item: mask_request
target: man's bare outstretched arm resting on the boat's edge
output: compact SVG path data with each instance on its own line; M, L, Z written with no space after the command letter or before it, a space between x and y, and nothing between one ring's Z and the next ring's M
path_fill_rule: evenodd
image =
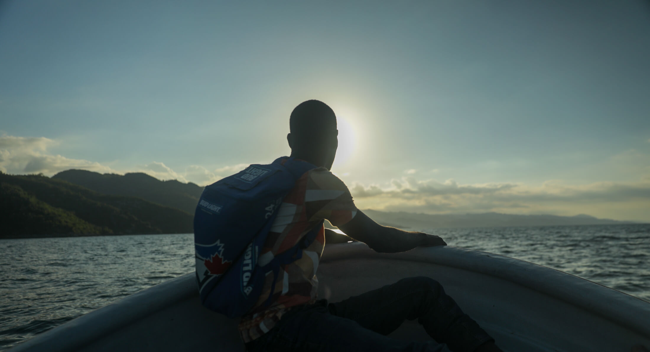
M433 234L409 232L379 225L361 210L357 210L356 216L345 225L339 226L339 229L380 253L403 252L419 246L447 245L442 238Z

